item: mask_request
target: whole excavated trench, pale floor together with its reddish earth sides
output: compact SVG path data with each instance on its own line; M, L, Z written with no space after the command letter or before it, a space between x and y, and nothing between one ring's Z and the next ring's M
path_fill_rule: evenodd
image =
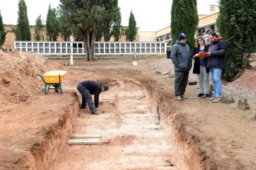
M64 123L39 149L35 169L201 169L203 154L190 148L193 139L160 92L132 79L107 83L112 88L100 94L102 113L79 110L76 96ZM155 125L156 98L161 125ZM103 143L68 146L71 134L100 134Z

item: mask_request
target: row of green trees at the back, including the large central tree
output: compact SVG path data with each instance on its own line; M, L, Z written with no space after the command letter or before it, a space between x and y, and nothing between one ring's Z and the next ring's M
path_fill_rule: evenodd
M31 33L25 0L19 0L18 6L16 40L29 41ZM110 32L112 26L113 31ZM66 41L69 40L71 34L74 34L76 41L83 41L88 60L93 59L93 45L97 35L104 36L105 41L108 41L113 35L115 41L118 41L123 34L127 36L128 41L134 41L137 34L136 21L132 11L130 11L128 28L121 27L118 0L60 0L58 10L49 6L46 27L42 24L41 15L36 18L35 40L44 40L45 29L50 41L56 41L59 33Z

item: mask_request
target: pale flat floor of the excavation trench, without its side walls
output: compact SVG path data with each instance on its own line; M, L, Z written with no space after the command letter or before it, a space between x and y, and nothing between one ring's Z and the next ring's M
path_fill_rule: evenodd
M152 98L134 83L116 81L111 92L101 94L102 114L79 112L73 133L100 134L104 143L67 147L55 169L177 169L172 138L155 125L147 101Z

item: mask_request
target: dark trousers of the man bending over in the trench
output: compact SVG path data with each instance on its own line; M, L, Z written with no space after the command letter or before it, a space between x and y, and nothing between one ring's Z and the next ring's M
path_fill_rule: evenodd
M77 85L77 90L79 90L79 92L82 94L82 106L83 104L87 103L90 108L90 113L95 113L96 108L93 104L93 99L92 99L92 96L90 95L89 90L87 90L86 87L84 87L81 84Z

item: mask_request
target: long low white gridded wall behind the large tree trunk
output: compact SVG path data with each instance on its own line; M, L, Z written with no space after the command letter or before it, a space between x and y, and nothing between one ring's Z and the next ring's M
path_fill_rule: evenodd
M83 42L15 41L14 48L39 55L86 55ZM95 55L158 55L166 54L163 42L95 42Z

